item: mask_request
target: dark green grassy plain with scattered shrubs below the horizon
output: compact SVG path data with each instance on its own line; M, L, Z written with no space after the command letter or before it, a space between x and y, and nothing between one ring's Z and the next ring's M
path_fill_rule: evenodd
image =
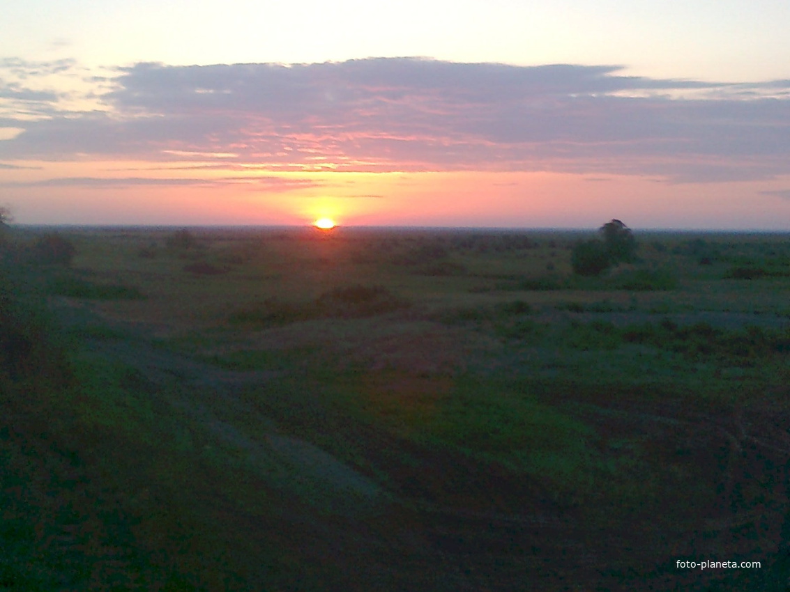
M787 590L788 235L55 236L0 246L0 590Z

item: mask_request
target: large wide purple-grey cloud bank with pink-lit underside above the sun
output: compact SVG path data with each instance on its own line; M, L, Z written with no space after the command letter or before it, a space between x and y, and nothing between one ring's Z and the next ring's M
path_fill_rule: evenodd
M790 81L716 84L622 71L421 58L140 63L117 70L101 97L107 111L6 124L24 133L0 144L0 157L555 170L671 182L790 173Z

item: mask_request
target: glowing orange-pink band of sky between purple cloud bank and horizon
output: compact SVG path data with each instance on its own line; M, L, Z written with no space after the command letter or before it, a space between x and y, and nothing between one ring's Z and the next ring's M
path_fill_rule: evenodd
M127 169L140 164L103 163L101 174L123 180ZM90 169L85 163L57 163L50 174L60 178L69 170L70 178L79 179ZM32 178L34 171L21 171L18 177ZM17 187L14 212L25 223L56 219L65 224L134 225L301 226L329 218L343 226L571 228L619 217L641 228L679 227L678 220L687 228L730 228L738 220L745 228L781 230L790 219L790 200L770 192L782 186L781 180L672 185L629 175L549 172L284 172L265 176L307 180L310 185L261 189L255 173L219 187L213 184L227 176L228 171L213 170L205 175L205 184L186 186L130 182L55 184L46 191L40 185ZM173 176L169 170L156 170L145 178L166 182ZM783 212L784 217L772 219L766 212Z

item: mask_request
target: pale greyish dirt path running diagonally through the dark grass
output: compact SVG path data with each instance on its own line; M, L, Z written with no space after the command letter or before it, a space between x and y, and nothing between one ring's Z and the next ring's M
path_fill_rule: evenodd
M73 326L93 317L85 309L66 313L67 323ZM136 370L152 392L166 396L173 407L211 433L217 447L242 455L246 466L274 489L297 496L318 511L348 516L365 515L389 500L370 478L322 448L284 433L272 418L239 396L246 389L261 388L280 372L217 368L156 347L139 325L126 326L122 333L128 338L84 339L89 355ZM232 419L239 417L252 421ZM249 425L254 429L245 427Z

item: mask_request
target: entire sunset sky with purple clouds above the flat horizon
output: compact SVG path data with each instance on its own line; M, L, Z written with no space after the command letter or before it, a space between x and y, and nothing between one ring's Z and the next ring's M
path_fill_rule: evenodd
M31 224L790 230L786 0L10 0Z

